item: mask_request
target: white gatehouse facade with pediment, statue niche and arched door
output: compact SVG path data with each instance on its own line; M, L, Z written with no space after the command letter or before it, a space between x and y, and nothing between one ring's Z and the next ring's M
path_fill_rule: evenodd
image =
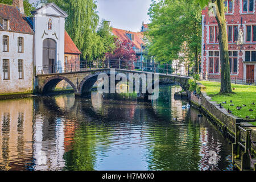
M35 31L36 74L62 72L64 67L65 18L67 14L54 3L32 12Z

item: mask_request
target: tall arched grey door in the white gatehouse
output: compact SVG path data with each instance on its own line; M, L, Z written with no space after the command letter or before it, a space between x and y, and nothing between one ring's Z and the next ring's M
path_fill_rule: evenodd
M43 71L44 73L56 72L56 42L53 39L43 41Z

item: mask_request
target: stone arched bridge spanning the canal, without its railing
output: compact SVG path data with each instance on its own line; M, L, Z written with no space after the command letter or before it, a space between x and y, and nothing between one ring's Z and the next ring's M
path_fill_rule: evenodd
M76 96L82 96L92 89L93 85L98 79L98 75L105 73L110 76L110 68L90 69L88 71L75 71L64 73L42 74L36 76L35 89L38 93L48 93L55 89L56 85L62 81L67 81L73 88ZM115 75L121 73L129 78L129 73L146 73L152 75L159 75L159 85L161 84L178 84L184 90L188 90L189 76L179 76L167 73L151 73L132 71L128 69L115 69ZM154 82L154 81L153 81Z

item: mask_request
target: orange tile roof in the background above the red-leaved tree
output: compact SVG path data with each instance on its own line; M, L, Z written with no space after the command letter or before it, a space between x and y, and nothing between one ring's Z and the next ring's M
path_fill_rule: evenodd
M137 49L141 49L141 44L144 44L143 42L143 33L142 32L131 32L127 30L122 30L118 28L112 28L112 33L117 36L117 38L123 42L124 40L127 40L131 42L131 40L127 37L127 34L133 34L134 35L134 41L132 41L133 46L135 46Z

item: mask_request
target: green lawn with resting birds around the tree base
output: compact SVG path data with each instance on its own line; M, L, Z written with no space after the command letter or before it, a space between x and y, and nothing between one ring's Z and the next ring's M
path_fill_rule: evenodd
M256 119L256 86L249 85L236 85L232 84L233 94L228 94L225 96L219 96L220 92L220 82L209 82L209 81L200 81L206 87L205 92L208 96L212 97L213 101L218 102L224 106L226 110L232 110L232 114L240 118L245 118L246 115L251 119ZM232 100L233 103L230 103ZM222 104L222 102L227 102L227 104ZM252 105L252 103L255 105ZM230 106L233 104L234 106ZM246 105L243 107L242 105ZM241 106L241 110L237 110L236 107ZM252 109L253 111L249 111ZM256 122L253 123L256 125Z

